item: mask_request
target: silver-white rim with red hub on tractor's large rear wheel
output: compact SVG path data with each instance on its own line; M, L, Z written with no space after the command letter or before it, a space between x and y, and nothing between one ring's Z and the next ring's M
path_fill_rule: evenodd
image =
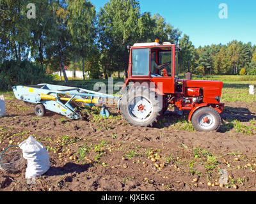
M132 98L129 101L127 108L129 115L137 122L145 122L149 120L153 113L151 101L143 96Z

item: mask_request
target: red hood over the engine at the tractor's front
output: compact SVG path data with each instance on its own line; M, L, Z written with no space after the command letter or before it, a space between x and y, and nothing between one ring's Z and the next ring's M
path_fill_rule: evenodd
M204 103L220 103L223 82L204 80L182 80L183 90L200 88L203 90Z

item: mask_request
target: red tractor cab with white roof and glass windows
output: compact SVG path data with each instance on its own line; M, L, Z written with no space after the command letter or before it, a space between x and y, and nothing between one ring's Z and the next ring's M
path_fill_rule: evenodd
M163 94L182 92L175 78L178 52L179 49L169 42L134 44L130 52L128 81L154 82L157 87L163 86Z

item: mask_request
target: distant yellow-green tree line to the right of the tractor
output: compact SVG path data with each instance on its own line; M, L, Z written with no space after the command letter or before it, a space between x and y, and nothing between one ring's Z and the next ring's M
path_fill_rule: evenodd
M182 68L190 62L197 75L256 75L256 46L233 40L227 45L207 45L195 48L189 36L180 40Z

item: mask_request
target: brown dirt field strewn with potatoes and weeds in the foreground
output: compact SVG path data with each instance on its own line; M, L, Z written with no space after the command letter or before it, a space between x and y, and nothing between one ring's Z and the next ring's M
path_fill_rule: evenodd
M155 128L128 125L115 108L102 119L69 120L6 100L0 148L32 135L48 150L51 168L27 184L20 173L0 171L1 191L255 191L256 102L226 103L218 132L198 133L187 117L166 112ZM220 185L221 170L228 184ZM211 182L211 187L209 187Z

